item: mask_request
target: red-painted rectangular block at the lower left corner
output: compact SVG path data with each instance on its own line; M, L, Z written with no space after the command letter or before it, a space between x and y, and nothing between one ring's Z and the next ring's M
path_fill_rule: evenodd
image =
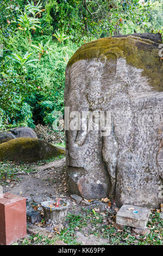
M0 244L10 245L26 235L26 198L5 193L0 198Z

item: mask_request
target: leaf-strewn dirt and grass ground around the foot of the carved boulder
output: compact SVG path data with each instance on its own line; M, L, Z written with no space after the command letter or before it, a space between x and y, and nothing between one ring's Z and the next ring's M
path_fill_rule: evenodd
M4 192L26 197L28 204L42 216L40 221L27 224L28 235L16 241L16 244L162 245L163 221L158 210L154 210L149 218L149 234L137 235L131 227L117 226L116 214L119 209L109 199L106 203L98 200L83 200L84 203L73 200L67 192L65 158L49 163L41 162L41 165L34 163L34 168L27 163L23 167L26 172L23 173L17 163L1 164L2 169L7 168L9 172L12 167L12 173L18 173L18 180L14 178L16 174L7 178L2 174ZM61 229L45 223L43 212L39 210L44 200L53 200L56 197L57 191L58 196L70 204L67 220Z

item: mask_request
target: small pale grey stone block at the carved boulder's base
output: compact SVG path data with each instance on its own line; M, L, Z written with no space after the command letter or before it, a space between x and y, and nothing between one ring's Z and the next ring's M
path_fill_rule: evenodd
M148 218L149 209L133 205L123 205L116 215L116 223L145 229Z

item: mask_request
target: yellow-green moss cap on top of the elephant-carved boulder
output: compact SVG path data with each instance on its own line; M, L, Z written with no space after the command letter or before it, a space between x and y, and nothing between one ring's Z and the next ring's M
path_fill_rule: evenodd
M151 86L163 91L163 62L159 57L159 43L139 36L102 38L82 45L67 64L69 68L82 59L99 58L102 54L109 60L114 53L117 58L125 58L127 63L143 69L142 75L149 78Z

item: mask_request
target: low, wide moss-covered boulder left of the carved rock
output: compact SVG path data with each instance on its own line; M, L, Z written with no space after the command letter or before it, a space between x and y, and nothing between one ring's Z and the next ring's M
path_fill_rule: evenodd
M35 162L65 154L65 151L35 138L16 138L0 144L0 160Z

